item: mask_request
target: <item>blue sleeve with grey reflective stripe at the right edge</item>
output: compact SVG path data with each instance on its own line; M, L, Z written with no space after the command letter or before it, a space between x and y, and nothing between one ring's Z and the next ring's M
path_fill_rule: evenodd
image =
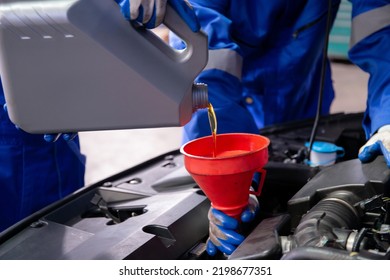
M363 127L371 137L390 124L390 1L350 0L352 34L349 58L370 74Z

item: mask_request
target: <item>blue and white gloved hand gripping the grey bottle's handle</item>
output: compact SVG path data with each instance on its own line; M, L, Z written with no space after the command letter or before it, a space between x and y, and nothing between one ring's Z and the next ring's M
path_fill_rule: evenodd
M167 1L192 31L199 31L198 19L186 0L115 0L127 20L142 23L149 29L159 26L164 20Z

